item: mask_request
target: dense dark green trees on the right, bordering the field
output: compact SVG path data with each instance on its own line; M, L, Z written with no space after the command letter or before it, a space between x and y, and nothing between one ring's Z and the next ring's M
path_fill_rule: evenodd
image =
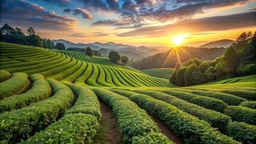
M197 85L229 77L256 74L256 33L243 32L213 61L198 58L177 62L169 81L178 86Z

